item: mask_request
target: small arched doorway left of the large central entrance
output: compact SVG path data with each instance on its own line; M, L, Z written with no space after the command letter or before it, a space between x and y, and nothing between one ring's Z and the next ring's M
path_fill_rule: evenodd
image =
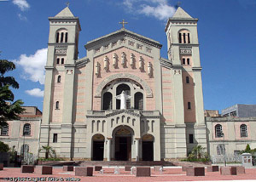
M92 160L103 161L105 137L102 134L95 134L92 137Z

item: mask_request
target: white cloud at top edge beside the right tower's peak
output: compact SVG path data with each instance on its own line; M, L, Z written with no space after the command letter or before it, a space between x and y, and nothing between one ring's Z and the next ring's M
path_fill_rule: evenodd
M153 16L158 20L167 20L176 10L168 0L123 0L123 5L130 13Z

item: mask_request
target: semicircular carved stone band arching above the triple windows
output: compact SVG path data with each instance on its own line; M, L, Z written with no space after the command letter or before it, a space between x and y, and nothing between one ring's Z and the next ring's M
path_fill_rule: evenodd
M143 81L143 79L141 79L140 77L131 75L129 73L119 73L119 74L115 74L115 75L105 78L96 88L95 97L102 97L102 89L108 84L108 82L112 82L113 80L119 79L119 78L128 78L128 79L131 79L131 80L134 80L134 81L140 83L143 86L143 89L146 91L147 97L153 97L152 90L148 86L148 83Z

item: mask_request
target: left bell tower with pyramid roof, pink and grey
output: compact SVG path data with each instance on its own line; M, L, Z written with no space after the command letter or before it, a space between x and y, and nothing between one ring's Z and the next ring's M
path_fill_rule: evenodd
M44 114L40 146L50 145L71 158L75 60L78 59L79 18L70 9L49 17L49 43L45 65ZM51 128L55 125L59 128ZM61 142L55 142L58 139Z

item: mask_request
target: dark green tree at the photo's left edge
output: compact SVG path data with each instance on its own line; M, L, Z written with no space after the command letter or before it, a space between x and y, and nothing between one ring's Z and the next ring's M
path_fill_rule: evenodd
M24 111L21 107L22 100L15 100L15 95L9 87L19 88L19 83L14 77L4 77L8 71L15 70L15 64L8 60L0 60L0 127L6 125L8 120L19 119L19 114Z

